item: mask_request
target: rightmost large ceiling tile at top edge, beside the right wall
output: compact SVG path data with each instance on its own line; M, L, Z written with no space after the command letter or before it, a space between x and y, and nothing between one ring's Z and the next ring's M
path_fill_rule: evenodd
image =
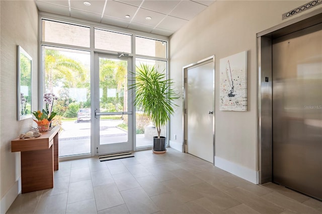
M201 5L199 3L195 3L192 1L182 1L170 13L170 15L181 19L191 20L206 8L207 6Z

